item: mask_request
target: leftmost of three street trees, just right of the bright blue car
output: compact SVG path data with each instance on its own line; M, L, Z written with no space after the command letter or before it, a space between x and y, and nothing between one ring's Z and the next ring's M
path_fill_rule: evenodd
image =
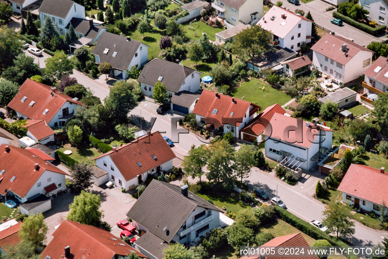
M199 178L199 181L202 182L201 176L204 174L203 167L206 165L207 160L207 151L205 145L195 147L191 146L191 149L188 152L188 156L185 156L182 161L183 170L189 174L193 179L195 177Z

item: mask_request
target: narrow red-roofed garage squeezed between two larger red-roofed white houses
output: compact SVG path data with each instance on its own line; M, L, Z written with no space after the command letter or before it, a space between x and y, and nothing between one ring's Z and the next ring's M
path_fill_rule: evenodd
M278 103L265 108L259 115L251 120L248 125L240 130L241 139L249 142L256 140L258 143L262 143L262 133L269 124L274 113L284 114L286 113L286 110Z

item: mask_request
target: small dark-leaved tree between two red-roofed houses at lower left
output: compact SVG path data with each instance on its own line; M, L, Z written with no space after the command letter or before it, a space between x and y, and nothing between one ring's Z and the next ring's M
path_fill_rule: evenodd
M92 187L93 169L89 164L85 162L75 163L70 170L70 175L71 189L76 193L87 191Z

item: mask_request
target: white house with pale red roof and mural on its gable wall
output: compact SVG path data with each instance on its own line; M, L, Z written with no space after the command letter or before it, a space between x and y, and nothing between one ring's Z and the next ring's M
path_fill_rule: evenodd
M313 65L342 85L357 80L371 66L373 51L352 40L326 33L314 44Z

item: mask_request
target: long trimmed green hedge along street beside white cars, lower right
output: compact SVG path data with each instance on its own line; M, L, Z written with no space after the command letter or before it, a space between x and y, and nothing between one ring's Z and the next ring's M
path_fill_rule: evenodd
M274 208L275 208L275 213L279 218L286 221L291 226L294 226L295 228L299 229L303 233L311 236L312 238L317 240L326 239L333 246L348 246L348 244L342 242L341 240L336 239L334 236L331 236L326 232L319 230L318 228L315 228L313 225L295 216L291 212L288 212L287 210L279 206L274 206Z

